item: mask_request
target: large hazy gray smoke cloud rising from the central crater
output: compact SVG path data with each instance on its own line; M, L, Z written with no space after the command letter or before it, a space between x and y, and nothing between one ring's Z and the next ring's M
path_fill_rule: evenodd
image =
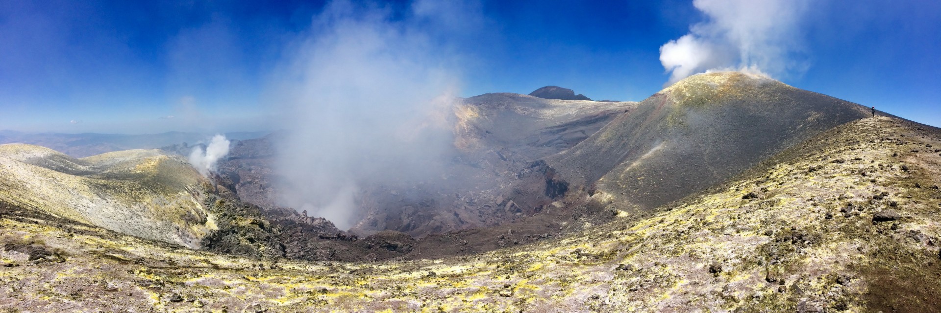
M458 75L439 34L423 29L460 14L450 8L461 7L418 2L395 14L333 2L314 17L272 87L284 114L281 205L345 229L362 188L439 173L453 147L446 118Z

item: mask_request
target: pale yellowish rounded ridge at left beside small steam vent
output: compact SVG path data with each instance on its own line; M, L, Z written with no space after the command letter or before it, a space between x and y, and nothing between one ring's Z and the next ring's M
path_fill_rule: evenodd
M217 229L199 203L199 173L157 150L73 159L52 149L0 145L0 201L125 234L199 248Z

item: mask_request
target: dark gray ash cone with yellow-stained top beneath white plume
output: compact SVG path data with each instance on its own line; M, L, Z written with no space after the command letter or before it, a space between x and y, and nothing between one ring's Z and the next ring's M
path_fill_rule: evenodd
M691 76L547 157L573 188L645 211L729 179L869 108L741 72Z

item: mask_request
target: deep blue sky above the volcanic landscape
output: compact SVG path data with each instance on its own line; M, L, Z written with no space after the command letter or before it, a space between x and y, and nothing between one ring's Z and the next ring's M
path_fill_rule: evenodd
M350 19L424 42L403 54L445 68L459 96L556 85L641 101L670 79L661 47L717 19L692 1L426 2L351 5L346 20L309 1L0 2L0 129L277 129L285 69ZM796 66L774 78L941 126L939 2L804 4L774 41Z

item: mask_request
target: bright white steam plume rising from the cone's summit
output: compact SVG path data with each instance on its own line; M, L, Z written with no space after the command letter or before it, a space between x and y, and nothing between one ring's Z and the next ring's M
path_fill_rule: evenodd
M707 70L742 70L766 76L803 70L800 24L806 0L694 0L707 21L660 47L671 85Z

